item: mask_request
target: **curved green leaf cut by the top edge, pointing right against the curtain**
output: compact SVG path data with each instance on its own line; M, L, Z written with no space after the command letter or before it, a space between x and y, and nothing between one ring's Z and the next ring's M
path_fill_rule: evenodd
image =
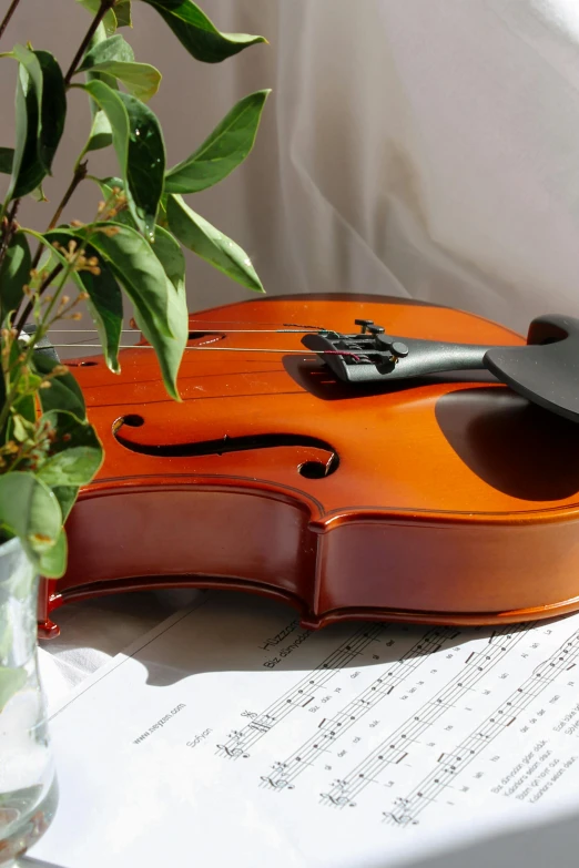
M144 0L156 9L181 44L196 60L220 63L248 45L266 42L247 33L220 33L215 24L192 0Z

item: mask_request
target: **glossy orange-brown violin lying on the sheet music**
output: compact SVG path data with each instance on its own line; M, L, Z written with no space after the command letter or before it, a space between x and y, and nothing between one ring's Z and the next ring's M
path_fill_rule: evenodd
M105 460L51 612L100 594L264 594L341 620L480 625L579 609L579 321L527 339L374 295L190 316L176 402L144 339L67 359ZM395 336L395 337L393 337Z

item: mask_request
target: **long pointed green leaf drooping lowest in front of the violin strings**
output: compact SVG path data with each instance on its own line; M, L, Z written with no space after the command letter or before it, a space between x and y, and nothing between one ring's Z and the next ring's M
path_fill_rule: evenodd
M116 229L110 234L111 226ZM57 229L61 233L61 229ZM131 299L135 319L145 338L154 347L165 388L179 399L176 376L185 344L172 333L171 324L182 310L180 296L170 292L164 269L151 245L132 226L119 223L90 224L71 237L82 241L90 233L91 246L105 262ZM47 233L50 239L52 233Z

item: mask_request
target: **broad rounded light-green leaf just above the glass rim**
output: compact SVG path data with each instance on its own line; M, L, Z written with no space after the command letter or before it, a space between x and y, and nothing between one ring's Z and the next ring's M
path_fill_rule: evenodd
M57 542L62 513L53 492L32 473L0 476L0 525L20 538L33 563Z

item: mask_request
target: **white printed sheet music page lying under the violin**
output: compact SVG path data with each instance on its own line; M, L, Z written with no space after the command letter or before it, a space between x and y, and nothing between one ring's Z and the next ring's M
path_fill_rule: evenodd
M383 868L535 825L579 805L578 687L579 615L311 632L207 594L53 715L60 805L32 855Z

